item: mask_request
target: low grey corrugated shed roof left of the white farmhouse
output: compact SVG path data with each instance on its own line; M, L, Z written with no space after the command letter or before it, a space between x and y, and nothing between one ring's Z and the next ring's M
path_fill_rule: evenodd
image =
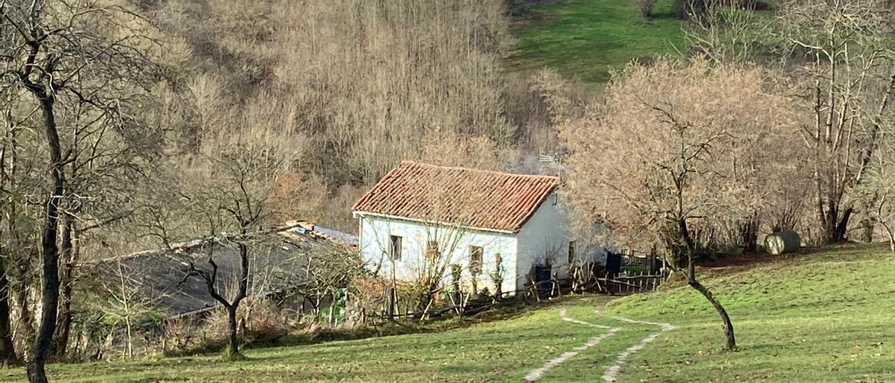
M302 285L309 277L303 263L309 254L356 251L355 244L321 235L319 229L320 226L305 222L288 222L256 234L251 245L252 280L265 281L268 293ZM204 280L184 279L191 261L210 273L208 258L212 253L218 266L218 288L226 290L240 275L241 258L235 243L218 238L178 243L171 250L141 251L79 267L91 279L106 285L115 285L119 277L126 277L129 285L139 286L135 298L177 318L217 307L218 302L209 294Z

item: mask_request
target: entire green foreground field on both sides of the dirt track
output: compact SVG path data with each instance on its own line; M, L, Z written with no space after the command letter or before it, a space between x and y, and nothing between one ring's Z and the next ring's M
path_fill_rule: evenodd
M526 372L605 333L560 318L621 328L546 371L541 381L598 381L618 353L657 331L613 319L677 328L632 355L619 381L895 381L895 257L849 245L788 258L703 268L725 303L737 353L722 353L719 321L701 295L666 286L609 302L570 296L515 318L442 333L383 336L250 350L243 362L215 356L141 362L55 364L58 381L521 381ZM0 370L0 380L24 370Z

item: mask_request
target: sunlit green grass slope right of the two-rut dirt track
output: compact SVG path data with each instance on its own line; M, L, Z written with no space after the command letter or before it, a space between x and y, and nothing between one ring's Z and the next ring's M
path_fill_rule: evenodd
M611 302L609 312L678 325L633 358L628 381L895 381L895 257L848 245L705 280L729 311L739 352L721 353L720 320L680 287Z

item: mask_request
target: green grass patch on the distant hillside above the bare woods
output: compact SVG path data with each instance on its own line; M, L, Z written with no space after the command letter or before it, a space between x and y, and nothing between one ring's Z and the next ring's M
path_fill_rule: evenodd
M510 66L549 67L584 81L609 80L609 72L635 58L685 51L682 21L671 0L656 4L644 21L630 0L568 0L535 6L512 29L516 49Z

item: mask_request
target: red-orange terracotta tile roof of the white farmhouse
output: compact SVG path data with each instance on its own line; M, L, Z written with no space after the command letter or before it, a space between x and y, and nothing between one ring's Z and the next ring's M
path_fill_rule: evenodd
M558 183L548 175L402 161L353 210L516 233Z

